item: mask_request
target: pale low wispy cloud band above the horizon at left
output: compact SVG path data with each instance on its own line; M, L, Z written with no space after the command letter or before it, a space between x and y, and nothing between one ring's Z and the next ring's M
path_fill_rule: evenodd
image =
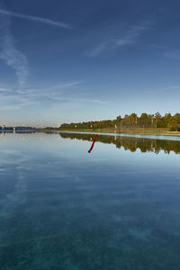
M80 93L73 91L80 82L82 81L54 85L50 88L50 91L49 88L43 88L43 91L40 88L6 89L7 91L0 92L0 111L22 110L32 106L44 106L45 104L49 108L56 105L66 105L67 103L96 103L102 105L108 103L102 99L86 97L86 94L81 91ZM63 85L66 91L64 91ZM67 88L70 91L67 91Z

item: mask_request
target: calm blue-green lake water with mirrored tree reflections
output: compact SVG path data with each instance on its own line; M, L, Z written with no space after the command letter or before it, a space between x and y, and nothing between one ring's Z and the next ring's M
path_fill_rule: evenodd
M180 269L180 141L0 133L0 269Z

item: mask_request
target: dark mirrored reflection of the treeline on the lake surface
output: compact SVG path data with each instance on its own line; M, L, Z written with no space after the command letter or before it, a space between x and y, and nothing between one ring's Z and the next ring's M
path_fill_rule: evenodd
M92 134L59 133L59 135L64 139L82 139L90 141L94 139L94 135ZM141 152L154 152L158 154L160 150L164 150L166 154L169 154L171 151L175 152L175 154L180 154L180 140L98 135L96 141L108 144L112 143L116 145L116 148L122 147L131 152L135 152L139 149Z

